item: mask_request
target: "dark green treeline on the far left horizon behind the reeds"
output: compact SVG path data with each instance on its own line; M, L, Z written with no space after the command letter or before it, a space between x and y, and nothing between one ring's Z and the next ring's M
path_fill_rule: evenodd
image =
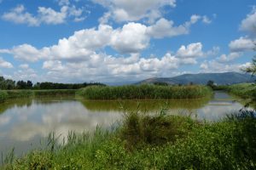
M32 81L20 80L15 82L11 79L0 77L0 89L79 89L87 86L106 86L101 82L84 82L84 83L57 83L57 82L37 82L33 84Z

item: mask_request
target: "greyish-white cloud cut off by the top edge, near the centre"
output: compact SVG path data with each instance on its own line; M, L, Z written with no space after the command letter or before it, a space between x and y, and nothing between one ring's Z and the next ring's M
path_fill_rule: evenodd
M107 13L118 22L142 19L153 22L162 16L160 8L176 6L176 0L93 0L93 2L108 8Z

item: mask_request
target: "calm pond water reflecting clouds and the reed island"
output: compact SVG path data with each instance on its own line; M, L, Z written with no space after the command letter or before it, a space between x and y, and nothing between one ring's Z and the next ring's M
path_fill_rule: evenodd
M241 107L239 102L223 92L216 92L212 99L12 100L0 105L0 151L4 155L15 147L15 153L20 155L26 150L42 146L40 140L46 140L50 132L55 132L56 136L61 134L61 138L65 138L71 131L93 132L97 125L109 128L122 119L124 111L134 111L137 108L152 113L166 108L169 114L189 114L200 120L218 121Z

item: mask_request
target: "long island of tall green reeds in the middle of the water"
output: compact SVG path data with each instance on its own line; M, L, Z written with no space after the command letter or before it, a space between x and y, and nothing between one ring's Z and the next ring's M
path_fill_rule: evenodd
M87 87L78 91L84 99L197 99L212 94L206 86L129 85Z

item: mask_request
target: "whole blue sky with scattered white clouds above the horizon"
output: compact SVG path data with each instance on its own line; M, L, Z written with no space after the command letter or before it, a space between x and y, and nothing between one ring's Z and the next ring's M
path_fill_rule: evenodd
M0 0L0 76L136 82L241 71L255 0Z

